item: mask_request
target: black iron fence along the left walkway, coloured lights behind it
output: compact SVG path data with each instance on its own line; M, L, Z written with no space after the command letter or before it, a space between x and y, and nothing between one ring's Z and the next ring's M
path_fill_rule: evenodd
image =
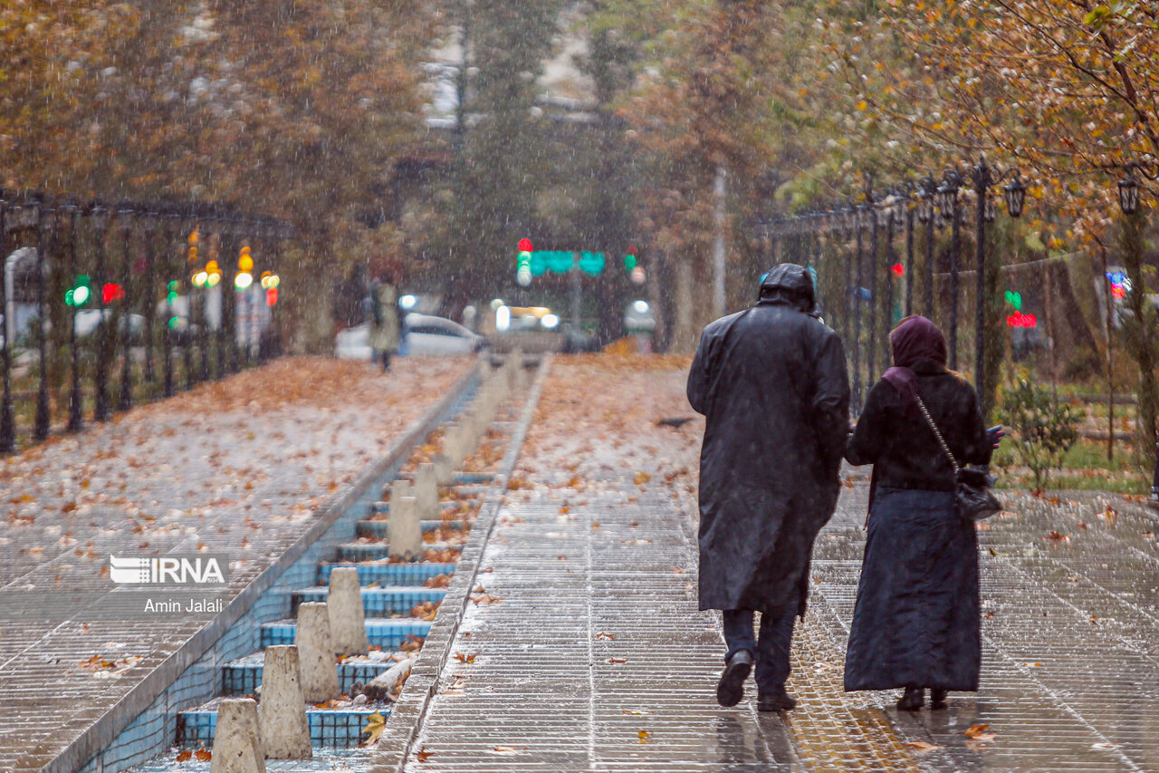
M280 352L289 224L0 189L0 453Z

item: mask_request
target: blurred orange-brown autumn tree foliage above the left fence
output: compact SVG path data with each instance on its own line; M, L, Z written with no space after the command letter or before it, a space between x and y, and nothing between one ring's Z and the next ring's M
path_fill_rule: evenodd
M359 223L421 136L436 21L370 0L7 3L0 182L287 219L287 313L328 339L326 288L365 259Z

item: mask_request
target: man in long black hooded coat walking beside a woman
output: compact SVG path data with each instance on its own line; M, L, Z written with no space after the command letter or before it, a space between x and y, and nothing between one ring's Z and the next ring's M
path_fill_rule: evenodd
M850 403L840 339L818 319L804 268L775 267L756 306L705 328L688 402L707 419L700 608L723 611L728 643L716 699L738 703L756 662L759 708L790 709L793 623L804 614L812 542L837 506Z

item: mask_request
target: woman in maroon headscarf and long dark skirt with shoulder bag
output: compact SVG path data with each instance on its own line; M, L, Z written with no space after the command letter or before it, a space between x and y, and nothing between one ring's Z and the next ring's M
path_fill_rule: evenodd
M869 391L845 451L851 464L874 465L845 689L904 687L898 708L917 710L928 687L941 708L947 691L978 689L978 546L917 396L958 464L987 464L994 438L974 388L947 369L936 325L909 317L890 345L894 367Z

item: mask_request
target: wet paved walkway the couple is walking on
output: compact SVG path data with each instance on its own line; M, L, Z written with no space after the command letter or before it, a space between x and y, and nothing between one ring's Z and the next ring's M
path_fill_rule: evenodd
M822 533L779 716L715 703L695 600L695 456L678 362L560 359L407 771L1159 770L1159 552L1122 497L1007 494L981 533L977 695L898 713L841 692L866 481ZM982 737L967 730L987 724ZM977 734L976 734L977 735Z

